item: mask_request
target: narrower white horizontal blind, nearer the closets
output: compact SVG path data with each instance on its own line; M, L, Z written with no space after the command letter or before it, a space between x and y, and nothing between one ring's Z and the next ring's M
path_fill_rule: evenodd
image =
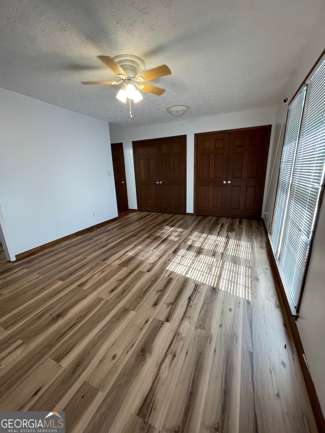
M293 166L296 155L301 118L303 115L305 96L306 86L296 96L295 101L290 105L285 128L272 230L273 246L277 257L280 253L280 245L283 233L283 221L287 209L288 194L293 174Z

